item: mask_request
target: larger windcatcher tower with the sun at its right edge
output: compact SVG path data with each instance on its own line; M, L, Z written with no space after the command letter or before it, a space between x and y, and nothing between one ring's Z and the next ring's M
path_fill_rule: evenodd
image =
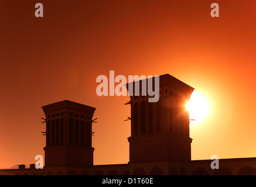
M190 161L192 139L186 103L194 88L169 74L161 75L159 101L148 102L149 95L142 95L139 82L139 96L130 96L129 162Z

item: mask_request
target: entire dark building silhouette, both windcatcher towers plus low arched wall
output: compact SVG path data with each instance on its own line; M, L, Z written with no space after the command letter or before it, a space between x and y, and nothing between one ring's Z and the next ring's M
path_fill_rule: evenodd
M35 164L19 169L0 169L0 175L256 175L256 158L191 161L189 112L186 103L194 88L169 74L159 76L159 101L149 102L154 85L139 83L139 94L131 95L131 137L128 164L93 165L91 124L95 108L71 101L43 106L46 116L45 167ZM127 84L128 91L131 91ZM146 87L146 88L145 88ZM142 89L143 88L143 89ZM155 88L155 89L152 89ZM136 91L135 91L136 92ZM138 93L138 92L136 92ZM126 103L126 104L128 104ZM3 172L4 173L3 173Z

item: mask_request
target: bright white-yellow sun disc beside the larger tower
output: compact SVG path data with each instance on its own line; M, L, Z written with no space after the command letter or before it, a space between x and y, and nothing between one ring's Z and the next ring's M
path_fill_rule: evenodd
M194 122L200 122L207 115L209 104L202 94L194 91L186 108L189 110L189 119L194 119Z

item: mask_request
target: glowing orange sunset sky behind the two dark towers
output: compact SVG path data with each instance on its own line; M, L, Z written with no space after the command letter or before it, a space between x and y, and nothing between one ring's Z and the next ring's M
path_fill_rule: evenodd
M36 18L35 4L44 5ZM220 18L210 5L219 3ZM96 78L170 74L209 101L190 125L192 159L256 157L256 2L0 2L0 168L44 155L41 106L97 108L94 164L127 163L128 96L99 97Z

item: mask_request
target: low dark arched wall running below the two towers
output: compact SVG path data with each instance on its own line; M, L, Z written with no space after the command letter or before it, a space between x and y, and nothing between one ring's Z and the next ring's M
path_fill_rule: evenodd
M213 160L149 162L94 165L93 167L52 167L44 169L2 169L13 175L256 175L256 158L219 160L219 169L211 169Z

